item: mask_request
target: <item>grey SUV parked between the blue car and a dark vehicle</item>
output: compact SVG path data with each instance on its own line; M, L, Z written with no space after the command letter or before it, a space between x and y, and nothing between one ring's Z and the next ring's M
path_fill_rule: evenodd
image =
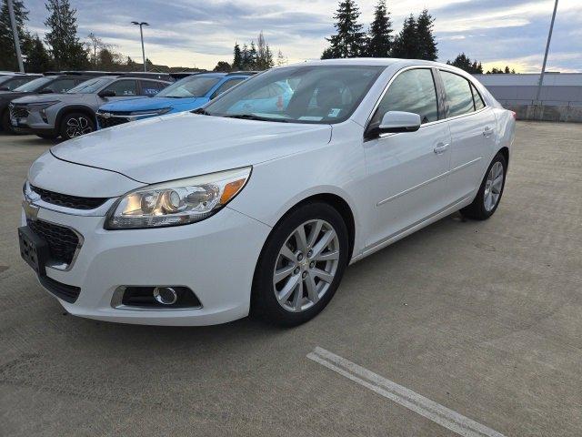
M15 99L11 123L18 131L39 137L79 137L95 130L95 111L104 103L155 96L169 84L134 75L98 76L63 94Z

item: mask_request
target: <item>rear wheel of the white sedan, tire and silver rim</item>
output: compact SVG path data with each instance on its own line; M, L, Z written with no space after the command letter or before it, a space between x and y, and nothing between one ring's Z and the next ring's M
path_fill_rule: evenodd
M461 209L461 214L469 219L485 220L491 217L503 195L506 185L507 160L498 153L489 164L485 178L477 191L477 196L468 207Z

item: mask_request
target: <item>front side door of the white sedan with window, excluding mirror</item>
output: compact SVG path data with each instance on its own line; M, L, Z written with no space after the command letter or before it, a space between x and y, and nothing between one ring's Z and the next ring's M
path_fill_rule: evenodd
M383 134L364 142L370 208L376 223L368 245L385 241L447 207L450 133L438 105L435 72L406 69L381 98L369 126L387 111L418 114L416 132Z

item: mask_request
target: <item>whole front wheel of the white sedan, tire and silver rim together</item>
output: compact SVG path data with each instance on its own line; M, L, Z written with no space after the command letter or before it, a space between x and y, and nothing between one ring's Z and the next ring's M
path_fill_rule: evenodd
M284 326L310 320L336 293L347 265L346 223L326 203L308 203L282 219L256 266L252 312Z

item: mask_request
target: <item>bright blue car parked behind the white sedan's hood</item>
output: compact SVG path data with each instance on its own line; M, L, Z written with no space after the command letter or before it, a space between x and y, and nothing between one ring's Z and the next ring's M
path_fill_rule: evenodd
M112 127L142 118L191 111L252 75L251 72L236 72L186 76L167 86L156 97L132 98L99 107L97 125L98 128Z

